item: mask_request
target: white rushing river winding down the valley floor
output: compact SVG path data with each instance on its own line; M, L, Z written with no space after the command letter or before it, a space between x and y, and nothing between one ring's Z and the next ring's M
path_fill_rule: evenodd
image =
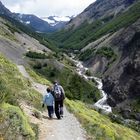
M76 71L79 75L84 77L86 80L94 79L97 82L97 88L100 90L102 98L94 104L94 108L101 109L104 113L112 112L111 107L107 105L107 94L102 90L102 87L103 87L102 80L94 76L87 76L85 72L88 70L88 68L84 67L82 62L74 60L74 59L72 60L76 64L76 67L77 67Z

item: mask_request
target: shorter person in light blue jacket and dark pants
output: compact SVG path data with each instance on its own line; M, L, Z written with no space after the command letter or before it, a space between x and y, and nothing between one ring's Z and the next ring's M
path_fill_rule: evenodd
M51 93L51 89L48 87L47 88L47 93L45 93L45 96L43 97L43 104L42 107L44 107L45 105L47 105L47 109L48 109L48 116L51 119L53 117L54 114L54 97Z

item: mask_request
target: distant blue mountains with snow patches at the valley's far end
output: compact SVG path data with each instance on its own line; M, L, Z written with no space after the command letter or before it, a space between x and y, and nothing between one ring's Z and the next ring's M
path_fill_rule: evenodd
M12 17L36 32L50 33L62 29L72 17L50 16L39 18L31 14L12 13L0 2L0 14ZM51 24L53 22L54 24Z

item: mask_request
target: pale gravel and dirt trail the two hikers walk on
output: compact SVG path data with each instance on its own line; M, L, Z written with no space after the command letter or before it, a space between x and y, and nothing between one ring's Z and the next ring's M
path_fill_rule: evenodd
M35 90L39 91L41 94L45 92L46 86L35 83L25 70L24 66L18 65L18 69L24 77L32 82L32 87ZM42 114L43 118L39 120L32 116L32 107L25 103L21 103L21 107L29 116L31 122L39 125L39 140L86 140L86 133L82 129L80 123L65 107L64 118L61 120L57 120L55 116L54 119L49 120L47 112L44 112Z

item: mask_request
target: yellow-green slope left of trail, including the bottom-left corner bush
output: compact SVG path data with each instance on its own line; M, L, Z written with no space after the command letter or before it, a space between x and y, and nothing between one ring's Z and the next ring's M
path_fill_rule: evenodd
M0 54L0 134L4 139L35 140L35 133L19 103L41 108L42 96L31 88L17 67Z

